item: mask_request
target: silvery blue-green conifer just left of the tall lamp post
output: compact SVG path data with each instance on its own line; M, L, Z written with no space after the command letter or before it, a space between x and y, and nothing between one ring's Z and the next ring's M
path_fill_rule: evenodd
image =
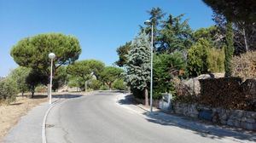
M131 43L127 54L126 80L131 89L143 91L145 105L148 106L148 83L150 82L150 43L148 36L142 32Z

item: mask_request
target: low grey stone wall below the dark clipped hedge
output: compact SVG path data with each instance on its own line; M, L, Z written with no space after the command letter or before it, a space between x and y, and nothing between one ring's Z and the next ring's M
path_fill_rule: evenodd
M200 115L205 111L211 113L210 120L212 123L224 124L254 131L256 130L256 112L210 108L197 104L173 104L173 112L187 117L203 118Z

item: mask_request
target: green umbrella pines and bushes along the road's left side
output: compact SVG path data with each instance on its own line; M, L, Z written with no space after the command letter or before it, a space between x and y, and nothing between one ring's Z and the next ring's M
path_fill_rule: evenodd
M35 92L47 93L49 84L49 53L55 53L53 86L79 91L98 89L126 89L123 70L105 66L100 60L78 60L82 50L79 40L61 33L39 34L21 39L11 49L11 56L19 65L0 80L0 100L7 104L15 101L17 94L33 98Z

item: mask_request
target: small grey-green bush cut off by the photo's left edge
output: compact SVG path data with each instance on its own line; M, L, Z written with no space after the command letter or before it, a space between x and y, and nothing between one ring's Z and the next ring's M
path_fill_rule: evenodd
M6 100L8 103L16 100L18 88L15 81L7 77L0 82L0 100Z

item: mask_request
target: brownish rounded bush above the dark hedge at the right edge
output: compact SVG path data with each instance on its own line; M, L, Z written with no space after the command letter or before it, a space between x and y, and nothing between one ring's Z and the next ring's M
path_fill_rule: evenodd
M232 76L243 80L256 77L256 52L247 52L231 60Z

